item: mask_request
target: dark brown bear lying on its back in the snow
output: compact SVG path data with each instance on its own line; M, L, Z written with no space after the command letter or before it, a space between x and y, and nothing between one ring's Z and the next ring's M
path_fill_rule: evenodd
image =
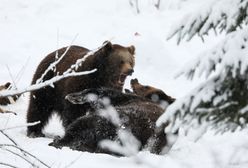
M140 141L140 150L147 148L150 152L159 154L167 144L165 125L160 128L155 125L156 120L165 110L160 106L160 101L171 103L174 99L160 89L139 84L137 79L131 80L131 85L134 92L142 96L106 88L86 89L67 95L66 99L73 104L90 103L91 111L70 124L65 136L56 138L50 145L57 148L68 146L88 152L120 154L102 148L99 142L105 139L118 142L117 131L125 129ZM141 89L142 87L144 88ZM151 88L153 94L163 95L160 101L154 102L150 99L152 96L148 96L148 93L151 93ZM121 124L116 124L102 114L103 110L109 110L105 98L110 99L110 104L118 113Z

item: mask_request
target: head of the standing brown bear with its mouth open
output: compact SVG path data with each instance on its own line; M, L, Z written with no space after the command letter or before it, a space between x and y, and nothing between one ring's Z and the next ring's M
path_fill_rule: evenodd
M104 87L122 90L126 77L132 75L135 65L135 47L123 47L107 41L99 50L98 68Z

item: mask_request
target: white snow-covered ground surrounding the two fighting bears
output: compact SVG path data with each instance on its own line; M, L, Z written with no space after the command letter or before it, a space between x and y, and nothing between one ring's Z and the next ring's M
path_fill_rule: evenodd
M166 40L171 25L202 4L197 0L161 0L157 10L152 0L140 2L140 14L128 0L1 0L0 1L0 84L14 80L18 88L30 84L35 68L48 53L73 44L95 49L111 40L136 47L136 67L131 78L163 89L180 98L204 79L193 82L175 79L180 69L197 54L216 44L221 37L194 38L176 45ZM129 80L125 87L129 88ZM28 94L14 105L1 106L17 115L0 114L0 129L25 125ZM140 152L133 157L113 157L55 149L48 146L54 136L63 135L61 123L54 117L45 130L46 138L26 137L26 128L6 131L19 146L51 167L243 167L248 166L248 132L214 135L208 131L198 137L196 131L181 133L172 150L157 156ZM197 139L197 141L196 141ZM0 144L11 143L0 135ZM0 149L0 163L30 167L26 161ZM37 164L39 164L36 161ZM72 164L71 164L72 163ZM3 166L0 164L0 167ZM42 165L41 165L42 166Z

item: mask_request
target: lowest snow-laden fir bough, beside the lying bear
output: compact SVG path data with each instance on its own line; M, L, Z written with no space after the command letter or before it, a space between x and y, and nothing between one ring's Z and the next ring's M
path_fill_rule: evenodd
M158 119L157 125L169 122L169 132L201 125L221 133L245 128L248 126L247 85L247 75L212 77L189 95L177 99Z

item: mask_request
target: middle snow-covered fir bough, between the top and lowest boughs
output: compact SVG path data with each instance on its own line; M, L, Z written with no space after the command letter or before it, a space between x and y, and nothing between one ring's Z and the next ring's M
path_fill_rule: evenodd
M177 76L185 75L192 79L196 76L205 77L216 72L221 74L232 69L233 76L237 70L244 74L248 67L248 26L244 29L232 32L217 44L213 49L205 51L198 58L191 60L187 67L183 68Z

